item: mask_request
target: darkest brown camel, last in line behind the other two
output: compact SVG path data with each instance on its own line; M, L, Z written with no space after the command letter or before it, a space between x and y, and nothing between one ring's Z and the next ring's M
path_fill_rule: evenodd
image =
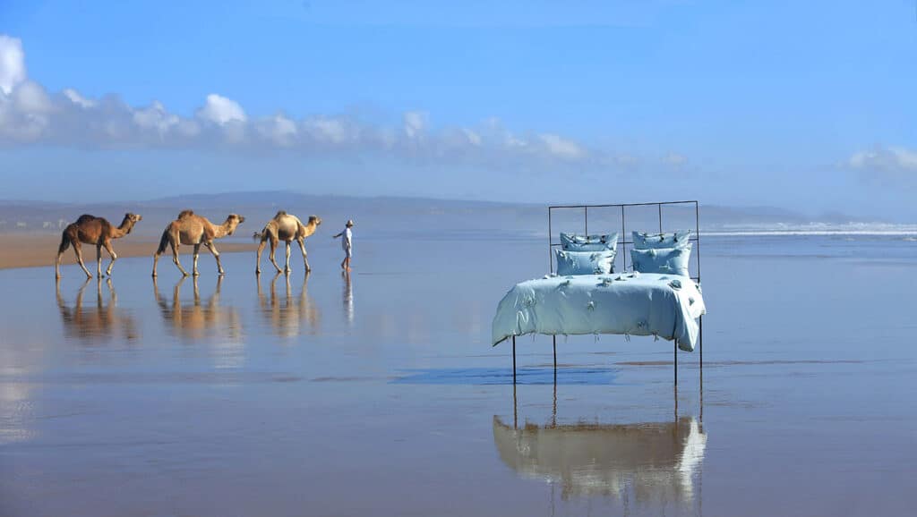
M121 225L115 227L103 217L95 217L90 214L80 215L80 218L75 223L68 225L63 230L61 246L58 247L58 258L54 263L54 278L61 278L61 257L63 257L63 252L67 251L67 248L71 247L71 245L73 246L73 252L76 253L76 260L80 263L80 267L83 268L83 272L86 273L86 277L93 278L93 274L83 264L83 244L95 245L96 269L100 278L102 277L102 248L105 247L105 251L108 252L108 256L112 259L105 270L105 274L111 276L112 268L115 266L115 260L117 260L115 248L112 247L112 240L129 234L130 230L134 229L134 225L141 219L143 217L138 214L128 212L124 214L124 220L121 221Z

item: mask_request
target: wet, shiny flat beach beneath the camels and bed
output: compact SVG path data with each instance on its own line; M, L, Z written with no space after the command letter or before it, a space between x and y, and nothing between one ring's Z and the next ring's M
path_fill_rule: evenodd
M289 277L248 253L222 280L206 256L196 280L0 271L0 514L917 509L911 241L704 237L677 388L670 342L624 336L558 338L556 377L520 337L514 387L491 318L541 238L355 241L349 276L330 238L308 277L298 250Z

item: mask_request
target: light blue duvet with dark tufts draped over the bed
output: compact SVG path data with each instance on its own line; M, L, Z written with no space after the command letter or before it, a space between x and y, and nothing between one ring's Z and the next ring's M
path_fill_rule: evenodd
M697 284L679 275L620 273L546 277L517 283L493 316L494 346L511 336L623 334L697 344L706 312Z

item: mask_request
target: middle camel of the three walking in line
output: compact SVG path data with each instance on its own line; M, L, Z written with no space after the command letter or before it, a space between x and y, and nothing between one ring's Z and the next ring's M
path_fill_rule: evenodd
M182 263L178 261L178 248L182 244L194 247L193 273L195 277L198 275L197 257L200 255L202 244L213 253L216 259L216 270L219 274L224 274L223 264L220 263L220 252L216 250L214 240L231 236L236 231L236 227L244 222L245 217L229 214L226 217L226 222L222 225L215 225L208 221L206 217L195 215L191 210L182 211L182 213L178 214L178 219L169 223L165 231L162 232L160 247L156 250L156 254L153 255L153 276L156 276L156 264L160 261L160 255L166 252L166 247L171 247L172 262L175 263L178 270L182 271L182 275L188 276L188 271L184 270Z

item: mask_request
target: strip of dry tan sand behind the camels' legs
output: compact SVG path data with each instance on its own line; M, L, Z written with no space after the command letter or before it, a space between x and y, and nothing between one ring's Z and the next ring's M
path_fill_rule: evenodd
M54 266L57 257L57 248L61 244L61 236L53 235L17 235L0 234L0 270L11 268L36 268ZM118 258L151 257L159 243L147 239L117 240L115 252ZM255 244L241 242L221 242L217 244L220 253L233 253L238 251L254 251ZM180 248L182 255L190 255L192 247ZM201 255L210 255L209 251L201 250ZM108 266L108 254L102 252L103 268ZM95 250L93 247L83 245L83 262L90 270L94 270ZM62 264L76 264L73 249L68 249L63 255ZM150 261L152 264L152 261Z

